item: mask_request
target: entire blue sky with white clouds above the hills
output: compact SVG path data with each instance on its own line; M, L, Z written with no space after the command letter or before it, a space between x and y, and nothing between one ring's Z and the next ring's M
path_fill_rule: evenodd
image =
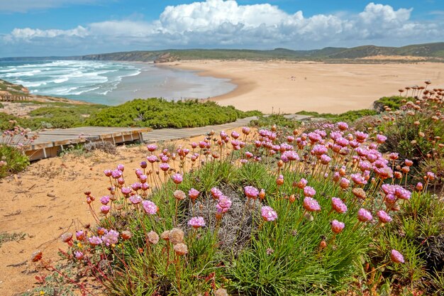
M0 57L444 41L444 0L0 0Z

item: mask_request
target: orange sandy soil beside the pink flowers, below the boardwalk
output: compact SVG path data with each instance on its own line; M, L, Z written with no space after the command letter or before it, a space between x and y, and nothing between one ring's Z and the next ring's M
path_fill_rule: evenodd
M235 130L240 132L240 128ZM159 147L172 150L201 139L202 136L165 142ZM128 182L135 182L132 172L147 155L145 145L118 147L118 155L67 154L40 160L16 177L0 180L0 234L25 234L21 240L0 246L0 295L20 295L37 286L35 276L48 272L35 268L31 253L41 249L44 258L59 260L58 248L67 249L60 235L74 233L82 225L94 225L83 192L91 190L98 198L107 194L109 184L103 171L119 163L126 167ZM99 209L101 204L95 203Z

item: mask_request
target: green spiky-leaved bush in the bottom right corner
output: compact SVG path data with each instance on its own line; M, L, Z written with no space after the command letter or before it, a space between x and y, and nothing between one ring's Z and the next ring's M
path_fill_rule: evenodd
M392 248L403 250L406 263L390 265L384 276L402 286L423 285L421 288L428 288L427 282L423 283L420 279L433 279L438 275L437 270L443 268L444 252L438 250L442 250L444 241L436 241L437 248L433 245L433 238L443 236L443 228L443 201L431 194L416 192L394 221L381 229L375 241L378 247L373 249L370 256L381 264L389 261L387 253Z

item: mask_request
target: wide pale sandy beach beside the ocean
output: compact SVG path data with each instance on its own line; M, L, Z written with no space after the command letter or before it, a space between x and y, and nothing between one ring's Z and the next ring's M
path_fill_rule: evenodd
M444 63L324 64L192 60L167 65L198 70L199 75L228 78L233 92L211 99L240 110L265 113L318 111L340 113L371 108L380 97L399 94L399 87L431 80L444 86Z

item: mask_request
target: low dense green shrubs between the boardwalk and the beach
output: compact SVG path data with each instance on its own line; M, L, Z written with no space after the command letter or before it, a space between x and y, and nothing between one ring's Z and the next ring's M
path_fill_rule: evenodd
M215 102L168 102L165 99L135 99L93 114L91 126L146 126L151 128L185 128L226 124L238 118L258 114L243 112L233 106Z

